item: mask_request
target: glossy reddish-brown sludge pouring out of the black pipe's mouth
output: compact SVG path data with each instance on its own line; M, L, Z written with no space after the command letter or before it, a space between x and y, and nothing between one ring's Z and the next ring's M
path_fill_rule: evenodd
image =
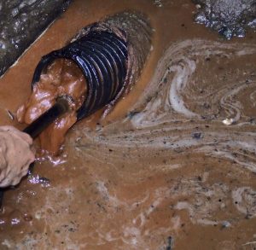
M28 101L20 106L17 119L31 124L33 120L51 108L59 96L70 96L70 112L55 119L39 136L41 148L57 154L69 128L77 121L76 111L84 102L87 84L82 71L70 60L57 59L42 73Z

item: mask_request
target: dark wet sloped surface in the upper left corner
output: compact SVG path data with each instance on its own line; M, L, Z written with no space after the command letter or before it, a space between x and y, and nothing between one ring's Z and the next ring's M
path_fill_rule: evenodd
M71 0L0 1L0 76Z

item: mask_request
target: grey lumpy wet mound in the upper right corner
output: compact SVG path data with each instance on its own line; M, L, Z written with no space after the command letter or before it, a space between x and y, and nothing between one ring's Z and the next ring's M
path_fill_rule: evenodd
M248 28L256 28L255 0L193 0L198 13L195 21L225 38L243 38Z

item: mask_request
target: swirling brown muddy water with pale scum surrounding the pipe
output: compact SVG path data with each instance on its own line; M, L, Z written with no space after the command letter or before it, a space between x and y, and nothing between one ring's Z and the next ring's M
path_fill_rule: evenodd
M124 9L155 30L142 78L7 192L1 249L253 249L256 34L218 38L189 0L75 1L1 79L1 123L17 125L6 110L29 96L41 55Z

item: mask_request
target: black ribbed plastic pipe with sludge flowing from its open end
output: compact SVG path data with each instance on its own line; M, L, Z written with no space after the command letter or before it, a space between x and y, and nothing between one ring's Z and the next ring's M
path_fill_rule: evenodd
M82 119L103 108L119 94L127 72L127 44L112 32L92 31L62 49L44 55L35 69L32 86L57 58L74 61L84 73L88 93L77 117Z

